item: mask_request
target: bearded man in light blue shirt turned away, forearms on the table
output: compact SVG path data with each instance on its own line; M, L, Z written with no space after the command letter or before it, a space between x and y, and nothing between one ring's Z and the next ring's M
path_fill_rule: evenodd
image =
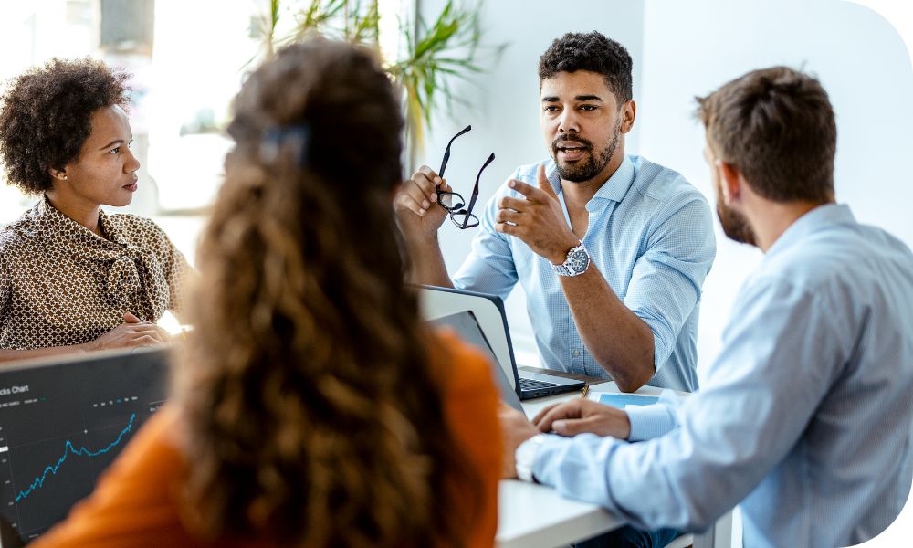
M723 351L680 406L574 402L538 429L505 412L506 475L640 527L700 530L740 503L746 546L865 542L913 480L913 254L834 204L834 112L817 80L750 72L699 114L722 225L766 254Z

